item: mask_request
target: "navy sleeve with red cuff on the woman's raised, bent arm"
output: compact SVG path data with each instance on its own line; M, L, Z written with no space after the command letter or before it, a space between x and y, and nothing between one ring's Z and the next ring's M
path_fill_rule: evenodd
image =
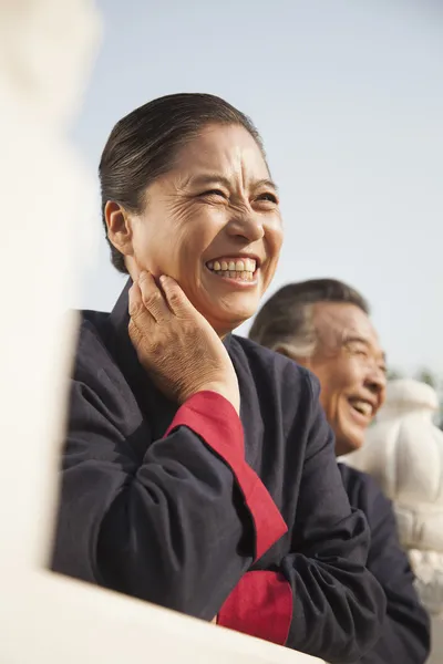
M104 372L81 373L72 384L53 569L212 620L287 530L245 463L235 409L216 393L198 393L148 445L141 416L133 432L122 425L135 401Z

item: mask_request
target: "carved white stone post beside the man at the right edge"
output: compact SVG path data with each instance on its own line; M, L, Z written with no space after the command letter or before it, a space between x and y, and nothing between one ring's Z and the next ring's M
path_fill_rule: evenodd
M433 619L431 662L443 662L443 432L435 391L412 380L388 384L387 403L363 447L341 457L372 475L393 501L399 535Z

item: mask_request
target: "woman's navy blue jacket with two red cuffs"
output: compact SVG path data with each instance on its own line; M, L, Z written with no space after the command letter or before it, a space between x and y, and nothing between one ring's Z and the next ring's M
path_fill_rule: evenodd
M385 599L317 380L229 335L240 419L214 393L178 407L137 361L127 290L111 314L83 313L53 569L354 662L379 637Z

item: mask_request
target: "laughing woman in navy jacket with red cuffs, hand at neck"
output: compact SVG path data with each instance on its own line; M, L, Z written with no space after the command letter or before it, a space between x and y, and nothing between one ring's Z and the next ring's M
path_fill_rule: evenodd
M318 382L231 334L277 267L278 194L251 122L205 94L121 120L100 177L128 282L83 312L53 569L353 662L385 601Z

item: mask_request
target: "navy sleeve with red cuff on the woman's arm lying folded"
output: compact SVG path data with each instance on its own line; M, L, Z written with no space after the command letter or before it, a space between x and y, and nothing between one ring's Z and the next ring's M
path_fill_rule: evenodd
M291 552L278 570L245 574L222 608L218 622L346 664L374 645L385 599L365 569L368 523L360 511L350 508L333 435L318 402L318 383L307 380L309 438ZM289 444L297 445L296 427L289 436Z

